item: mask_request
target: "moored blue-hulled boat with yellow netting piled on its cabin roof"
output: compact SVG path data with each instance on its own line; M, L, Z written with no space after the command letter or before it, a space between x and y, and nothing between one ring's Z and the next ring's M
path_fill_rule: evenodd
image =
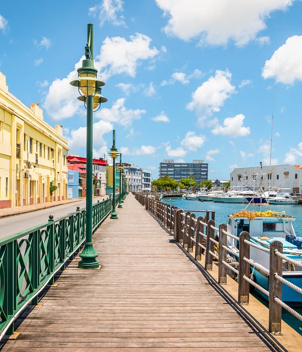
M227 231L239 237L242 231L250 233L250 241L258 246L269 249L270 244L278 240L283 244L283 254L296 262L302 261L302 237L297 237L293 228L295 217L286 216L284 212L271 210L266 212L241 211L229 216ZM228 237L228 246L239 253L239 241ZM250 259L269 270L269 252L250 247ZM269 290L268 275L250 266L251 280ZM302 268L283 261L282 277L290 283L302 288ZM255 289L261 296L268 297ZM302 305L302 295L285 284L282 284L282 301L289 305Z

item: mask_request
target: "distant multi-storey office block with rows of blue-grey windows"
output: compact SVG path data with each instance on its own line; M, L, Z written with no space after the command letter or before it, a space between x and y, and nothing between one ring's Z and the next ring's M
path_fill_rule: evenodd
M208 163L203 160L175 162L173 159L167 159L160 162L159 177L165 177L166 174L177 182L191 176L195 182L201 182L208 179Z

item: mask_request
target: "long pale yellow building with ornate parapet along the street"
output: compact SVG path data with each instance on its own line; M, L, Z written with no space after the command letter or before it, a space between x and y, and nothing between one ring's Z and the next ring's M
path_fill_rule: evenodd
M67 153L62 127L14 97L0 72L0 208L67 199Z

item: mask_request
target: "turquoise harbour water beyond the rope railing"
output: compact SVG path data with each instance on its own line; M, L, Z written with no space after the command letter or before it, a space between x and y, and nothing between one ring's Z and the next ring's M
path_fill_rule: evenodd
M215 223L221 224L226 223L228 216L237 211L245 209L247 204L226 204L226 203L215 203L215 202L201 202L201 201L188 201L182 198L163 198L163 202L170 205L174 205L184 210L190 210L195 213L196 216L203 216L204 213L194 212L196 210L214 210L215 211ZM259 211L259 206L249 207L249 210L255 209ZM262 207L262 211L267 210L268 207ZM285 211L286 215L295 216L296 220L293 222L296 236L302 236L302 205L289 204L289 205L271 205L271 210L277 212ZM261 302L267 305L261 297L257 297ZM295 308L295 310L302 314L302 308ZM286 310L282 311L282 319L294 328L299 334L302 335L302 322L288 313Z

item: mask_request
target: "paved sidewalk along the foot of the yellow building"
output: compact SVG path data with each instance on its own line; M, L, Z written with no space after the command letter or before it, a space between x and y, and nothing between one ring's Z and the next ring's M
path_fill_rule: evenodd
M94 199L99 198L102 200L103 198L107 198L108 196L98 196L94 197ZM47 203L39 203L39 204L32 204L32 205L24 205L22 207L15 207L15 208L4 208L0 209L0 218L4 218L7 216L23 214L23 213L30 213L36 210L47 209L56 207L58 205L68 204L68 203L75 203L85 200L86 198L77 198L77 199L67 199L65 201L55 201L55 202L47 202Z

